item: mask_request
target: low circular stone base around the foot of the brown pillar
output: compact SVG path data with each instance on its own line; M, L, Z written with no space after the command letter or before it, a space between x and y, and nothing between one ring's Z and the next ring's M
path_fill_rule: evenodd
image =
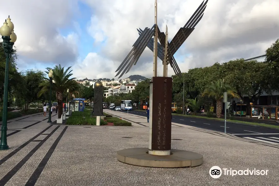
M170 149L171 155L148 154L148 148L126 148L117 151L120 162L146 167L193 167L203 163L203 156L191 151Z

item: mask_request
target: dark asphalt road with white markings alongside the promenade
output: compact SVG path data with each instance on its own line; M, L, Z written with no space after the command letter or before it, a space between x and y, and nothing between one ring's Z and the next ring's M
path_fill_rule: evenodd
M119 111L119 112L127 112L127 111ZM135 114L139 116L146 116L145 112L142 111L129 111L130 114ZM202 118L193 118L193 117L183 117L183 116L172 116L172 122L195 126L203 129L209 129L213 131L224 132L225 126L224 122L216 121L216 120L207 120ZM226 124L227 133L233 134L239 137L253 139L255 141L261 141L268 144L279 144L279 130L276 129L268 129L257 126L248 126L241 125L236 123L228 123Z

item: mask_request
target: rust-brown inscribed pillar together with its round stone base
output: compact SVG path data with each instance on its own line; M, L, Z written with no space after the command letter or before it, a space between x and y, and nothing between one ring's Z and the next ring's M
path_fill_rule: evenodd
M128 148L117 151L120 162L148 167L185 167L203 163L198 153L171 149L172 78L153 77L149 96L148 148Z

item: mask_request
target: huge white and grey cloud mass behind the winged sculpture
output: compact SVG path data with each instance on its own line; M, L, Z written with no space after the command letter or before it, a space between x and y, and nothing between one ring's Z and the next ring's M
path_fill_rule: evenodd
M113 77L138 38L136 28L150 28L154 24L154 1L84 1L94 9L88 32L97 41L104 41L105 38L106 45L100 55L105 61L110 61L113 68L108 77ZM165 31L168 25L169 41L201 2L158 1L158 25L161 31ZM278 6L277 0L209 0L203 18L176 54L177 58L187 54L184 60L177 60L181 71L264 53L278 38ZM148 50L144 51L127 76L152 75L152 52ZM91 63L92 67L94 65ZM158 60L158 69L162 71L161 66L162 62ZM171 74L173 70L169 67Z

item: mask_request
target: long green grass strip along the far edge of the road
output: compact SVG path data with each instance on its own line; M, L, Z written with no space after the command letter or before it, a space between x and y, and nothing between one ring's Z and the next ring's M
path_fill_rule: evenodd
M208 120L215 120L215 121L225 121L224 118L217 118L217 117L204 117L204 116L193 116L193 115L182 115L177 113L172 113L172 115L182 116L182 117L192 117L192 118L200 118L200 119L208 119ZM255 123L255 122L245 122L245 121L238 121L234 120L235 118L227 119L227 122L231 123L240 123L240 124L247 124L247 125L253 125L253 126L264 126L272 129L279 129L279 126L277 125L269 125L269 124L262 124L262 123Z

